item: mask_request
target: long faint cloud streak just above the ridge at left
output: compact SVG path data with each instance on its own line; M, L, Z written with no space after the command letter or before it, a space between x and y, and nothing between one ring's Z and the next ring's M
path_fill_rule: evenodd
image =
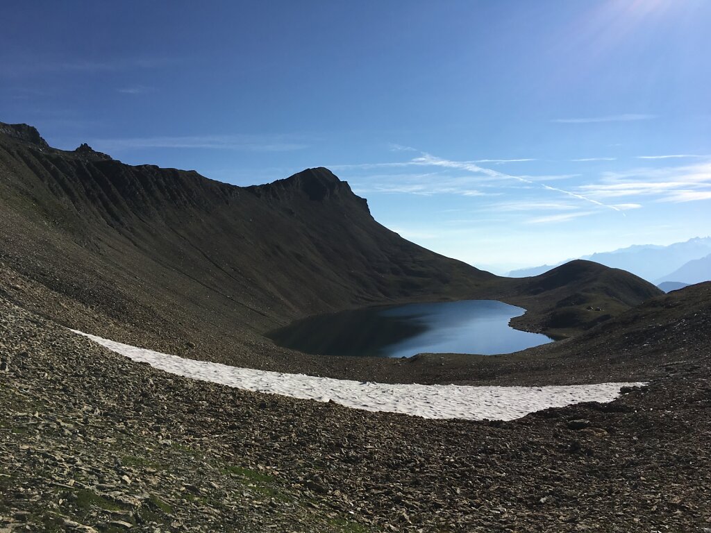
M104 151L135 149L216 149L246 151L293 151L308 148L287 136L203 135L133 137L126 139L93 139L92 145Z

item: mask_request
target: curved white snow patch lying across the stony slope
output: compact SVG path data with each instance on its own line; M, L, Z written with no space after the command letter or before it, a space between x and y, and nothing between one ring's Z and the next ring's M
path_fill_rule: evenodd
M551 385L547 387L468 387L460 385L385 384L351 379L283 374L194 361L136 348L72 330L109 350L171 374L268 394L337 404L367 411L390 411L427 419L513 420L547 407L579 402L611 402L620 387L643 383Z

